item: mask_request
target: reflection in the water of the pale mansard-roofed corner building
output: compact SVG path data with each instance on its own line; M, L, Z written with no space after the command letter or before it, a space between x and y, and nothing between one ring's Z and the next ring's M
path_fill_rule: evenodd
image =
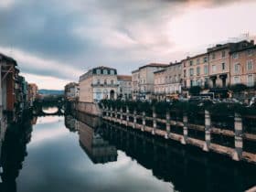
M101 137L101 120L82 113L76 113L79 120L72 116L65 117L69 130L78 130L80 147L90 157L94 164L104 164L117 160L117 150Z

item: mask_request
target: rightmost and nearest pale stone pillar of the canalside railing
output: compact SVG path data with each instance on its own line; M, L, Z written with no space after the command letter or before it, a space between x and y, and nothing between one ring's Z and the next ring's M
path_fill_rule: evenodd
M242 158L242 119L239 113L235 113L235 151L233 160L240 161Z

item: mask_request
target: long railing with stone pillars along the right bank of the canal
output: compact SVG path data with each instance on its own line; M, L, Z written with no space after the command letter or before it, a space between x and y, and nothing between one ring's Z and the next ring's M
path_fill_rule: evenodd
M168 111L157 115L148 112L130 112L126 110L102 108L102 118L112 123L164 136L181 144L192 144L204 151L212 151L229 155L233 160L245 160L256 164L256 133L255 128L243 127L243 120L255 117L241 117L239 113L220 119L210 112L177 112ZM223 118L223 117L222 117ZM221 123L217 123L221 122ZM254 126L255 127L255 126ZM246 128L246 129L244 129Z

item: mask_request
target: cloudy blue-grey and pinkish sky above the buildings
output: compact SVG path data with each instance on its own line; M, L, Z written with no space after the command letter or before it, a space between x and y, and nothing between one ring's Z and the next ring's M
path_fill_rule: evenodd
M255 8L255 0L0 0L0 52L40 89L63 89L92 67L129 74L255 37Z

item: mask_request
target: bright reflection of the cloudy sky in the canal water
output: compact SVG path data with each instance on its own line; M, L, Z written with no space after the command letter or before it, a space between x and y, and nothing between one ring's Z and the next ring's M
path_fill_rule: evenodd
M79 135L69 133L60 119L38 119L41 123L33 128L28 156L17 178L18 192L172 191L170 183L158 180L121 151L117 162L94 165L80 148Z

